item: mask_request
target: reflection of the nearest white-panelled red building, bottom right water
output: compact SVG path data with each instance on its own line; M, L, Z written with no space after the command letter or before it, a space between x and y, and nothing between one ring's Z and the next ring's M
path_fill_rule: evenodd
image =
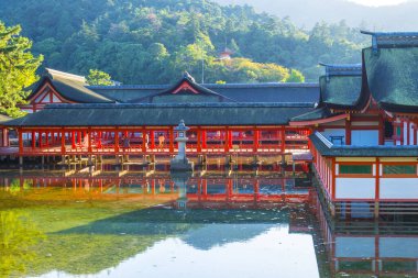
M328 260L331 277L418 276L417 222L332 221L318 199L314 211L323 241L316 244L317 253L323 248L327 254L322 260Z

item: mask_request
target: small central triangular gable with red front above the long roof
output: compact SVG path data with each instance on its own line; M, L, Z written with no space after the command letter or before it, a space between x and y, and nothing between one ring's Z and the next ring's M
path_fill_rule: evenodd
M176 97L173 98L174 96ZM235 100L198 85L188 73L185 73L184 77L173 87L144 98L132 100L132 102L235 102Z

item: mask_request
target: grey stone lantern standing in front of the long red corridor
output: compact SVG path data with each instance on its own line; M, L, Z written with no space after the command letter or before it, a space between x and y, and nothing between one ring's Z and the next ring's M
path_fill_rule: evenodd
M191 171L193 163L186 157L186 143L188 141L187 131L190 130L182 120L178 126L174 129L177 132L175 141L178 143L178 154L170 160L170 170L174 171Z

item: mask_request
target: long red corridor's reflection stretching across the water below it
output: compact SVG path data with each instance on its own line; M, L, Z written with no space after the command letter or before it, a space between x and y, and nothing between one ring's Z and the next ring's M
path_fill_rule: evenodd
M278 208L307 203L311 198L310 188L296 186L294 179L286 178L189 178L186 188L179 188L168 175L150 178L15 176L2 178L6 190L13 180L19 180L22 191L63 188L74 193L88 192L98 199L161 200L174 208L177 199L184 198L188 209ZM179 196L182 192L186 196Z

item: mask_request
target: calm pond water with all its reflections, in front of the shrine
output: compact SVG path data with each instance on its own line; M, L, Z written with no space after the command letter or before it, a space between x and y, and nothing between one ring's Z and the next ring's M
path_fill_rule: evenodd
M0 277L418 277L418 223L330 221L305 175L0 174Z

